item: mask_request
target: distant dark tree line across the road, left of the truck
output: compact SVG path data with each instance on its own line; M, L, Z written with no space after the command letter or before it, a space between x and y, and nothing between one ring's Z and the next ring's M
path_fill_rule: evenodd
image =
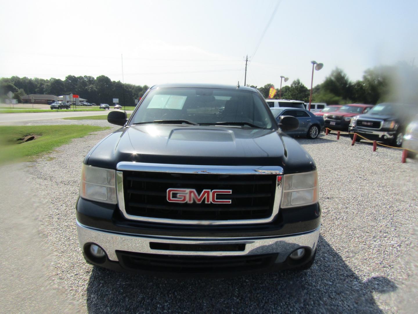
M50 78L28 78L12 76L0 79L0 98L10 91L14 98L22 102L21 97L29 94L69 95L76 94L87 99L89 103L109 103L113 98L119 98L120 105L135 106L135 99L139 99L148 90L147 85L122 84L112 81L105 75L96 78L88 75L67 75L65 80ZM2 99L2 100L3 100Z

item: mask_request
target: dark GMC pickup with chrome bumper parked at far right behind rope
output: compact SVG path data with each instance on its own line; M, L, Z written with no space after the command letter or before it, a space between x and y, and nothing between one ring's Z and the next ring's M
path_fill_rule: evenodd
M400 147L406 126L417 113L416 105L380 103L367 114L355 116L350 123L349 131L361 134L367 139ZM351 135L352 138L353 136ZM357 136L357 141L360 140Z

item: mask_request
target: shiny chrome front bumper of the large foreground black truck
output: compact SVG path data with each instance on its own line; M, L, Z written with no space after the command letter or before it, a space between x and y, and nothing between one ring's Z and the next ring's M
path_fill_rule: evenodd
M177 237L148 237L133 236L129 234L117 234L104 230L92 229L76 221L80 248L83 251L87 243L94 243L102 247L109 260L118 261L116 250L152 253L163 255L199 255L199 256L232 256L232 255L262 255L279 253L276 263L286 260L289 254L300 247L309 247L315 252L319 238L319 228L304 234L295 234L285 237L260 237L260 238L177 238ZM155 250L150 248L150 242L165 244L194 244L194 245L219 245L219 244L245 244L243 251L173 251Z

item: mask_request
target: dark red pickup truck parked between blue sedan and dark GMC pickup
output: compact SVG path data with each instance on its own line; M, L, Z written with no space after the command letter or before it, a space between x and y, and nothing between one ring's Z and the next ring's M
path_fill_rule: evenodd
M347 131L352 117L366 113L373 105L351 104L344 105L339 111L324 114L325 127L336 131Z

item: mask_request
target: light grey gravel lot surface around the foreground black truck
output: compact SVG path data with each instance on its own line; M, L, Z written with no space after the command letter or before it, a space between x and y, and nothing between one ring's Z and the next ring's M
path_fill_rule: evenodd
M109 126L100 120L31 125L43 123ZM373 153L370 144L352 147L348 137L337 141L335 134L298 138L319 169L323 216L313 267L300 273L164 279L92 267L79 250L74 206L82 160L108 133L74 139L24 170L45 204L38 228L50 254L48 279L80 312L413 313L418 308L418 160L402 164L398 149Z

